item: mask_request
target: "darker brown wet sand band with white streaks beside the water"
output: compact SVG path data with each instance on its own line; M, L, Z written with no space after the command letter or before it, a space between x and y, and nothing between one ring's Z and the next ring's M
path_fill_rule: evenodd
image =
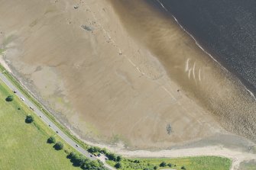
M172 16L159 13L156 17L149 12L154 11L152 6L141 8L138 2L112 2L128 32L151 49L170 78L181 85L188 96L196 98L226 130L256 139L255 98L215 61L215 56L198 47ZM137 23L136 27L131 23Z

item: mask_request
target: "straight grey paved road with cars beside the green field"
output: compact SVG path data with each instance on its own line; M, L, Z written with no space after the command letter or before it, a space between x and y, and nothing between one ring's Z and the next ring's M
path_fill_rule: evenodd
M60 130L60 128L58 128L51 120L49 120L48 117L42 111L40 111L31 101L29 101L28 98L26 98L26 96L23 95L21 93L21 91L19 91L18 88L16 88L15 85L13 85L11 83L10 80L8 80L8 78L5 76L5 73L0 74L0 79L2 79L2 81L5 82L5 84L9 88L11 88L12 91L17 91L17 93L15 93L15 95L17 95L18 98L20 98L20 99L24 98L24 101L22 99L21 99L21 101L23 101L24 104L28 105L28 107L32 107L34 109L34 113L37 114L38 117L41 117L41 120L43 120L44 123L46 123L47 126L49 126L51 130L53 130L55 133L57 133L57 135L59 135L63 140L65 140L66 143L70 144L70 146L72 146L78 152L83 154L83 156L86 156L87 158L89 158L91 160L98 159L95 156L91 157L91 154L89 152L87 152L86 149L83 149L82 147L80 147L78 145L78 143L73 141L69 136L66 136L66 134L63 133L62 130ZM111 168L111 167L109 167L109 165L105 165L105 167Z

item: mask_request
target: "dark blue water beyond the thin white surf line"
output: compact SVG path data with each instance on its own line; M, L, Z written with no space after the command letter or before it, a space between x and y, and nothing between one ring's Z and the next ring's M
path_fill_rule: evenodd
M151 0L256 94L255 0Z

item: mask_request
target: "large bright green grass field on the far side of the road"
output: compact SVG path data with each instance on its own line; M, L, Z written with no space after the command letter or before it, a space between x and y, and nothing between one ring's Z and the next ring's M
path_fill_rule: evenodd
M26 107L18 97L7 102L13 92L0 82L0 169L79 169L66 159L64 150L56 151L47 143L55 136L43 122ZM18 110L18 107L21 110ZM34 123L25 123L27 115L34 116ZM64 149L71 151L64 143Z

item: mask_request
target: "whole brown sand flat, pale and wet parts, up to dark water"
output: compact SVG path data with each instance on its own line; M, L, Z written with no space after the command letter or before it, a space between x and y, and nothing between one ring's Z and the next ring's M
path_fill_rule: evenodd
M255 119L248 92L144 2L0 2L11 71L84 140L167 148L227 133L219 122L253 133L230 119Z

